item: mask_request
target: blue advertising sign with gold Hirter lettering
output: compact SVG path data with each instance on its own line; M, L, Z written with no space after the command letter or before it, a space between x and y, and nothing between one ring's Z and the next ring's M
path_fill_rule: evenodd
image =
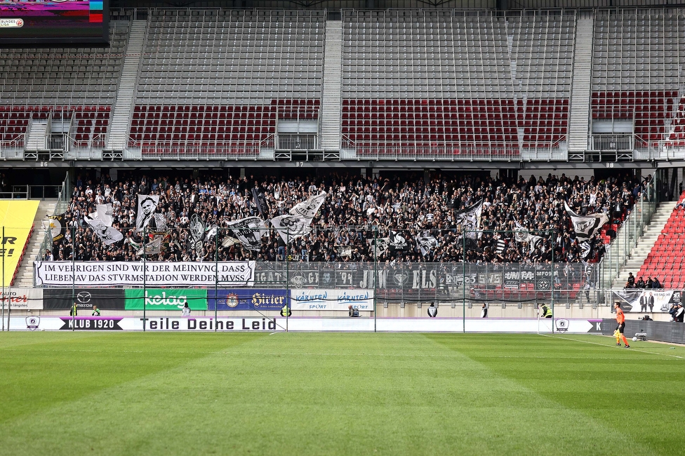
M209 310L280 310L286 303L286 290L245 289L207 290Z

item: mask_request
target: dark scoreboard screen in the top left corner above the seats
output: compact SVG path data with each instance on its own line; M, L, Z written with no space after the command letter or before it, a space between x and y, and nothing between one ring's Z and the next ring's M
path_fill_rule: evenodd
M109 0L0 0L0 44L108 41Z

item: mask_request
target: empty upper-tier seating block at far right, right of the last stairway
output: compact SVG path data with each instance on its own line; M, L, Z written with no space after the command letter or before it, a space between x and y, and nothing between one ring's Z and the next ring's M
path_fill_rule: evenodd
M685 22L679 11L597 11L592 63L592 133L597 147L601 133L634 135L634 144L613 142L622 149L677 140L671 132L677 128L673 121L683 95L684 63ZM616 121L627 123L628 128L612 130L611 121L613 128Z

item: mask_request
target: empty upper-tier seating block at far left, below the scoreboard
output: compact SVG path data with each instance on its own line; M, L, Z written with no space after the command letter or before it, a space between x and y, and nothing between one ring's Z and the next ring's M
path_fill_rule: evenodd
M38 137L34 150L64 148L63 135L70 147L102 148L129 27L111 22L109 48L0 49L0 146L28 148L35 124L46 137L62 138L53 145Z

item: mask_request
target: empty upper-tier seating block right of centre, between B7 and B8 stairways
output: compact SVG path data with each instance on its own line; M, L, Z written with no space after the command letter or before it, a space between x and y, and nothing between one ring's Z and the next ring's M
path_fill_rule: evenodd
M575 21L574 11L346 11L346 146L364 158L442 159L558 148Z

